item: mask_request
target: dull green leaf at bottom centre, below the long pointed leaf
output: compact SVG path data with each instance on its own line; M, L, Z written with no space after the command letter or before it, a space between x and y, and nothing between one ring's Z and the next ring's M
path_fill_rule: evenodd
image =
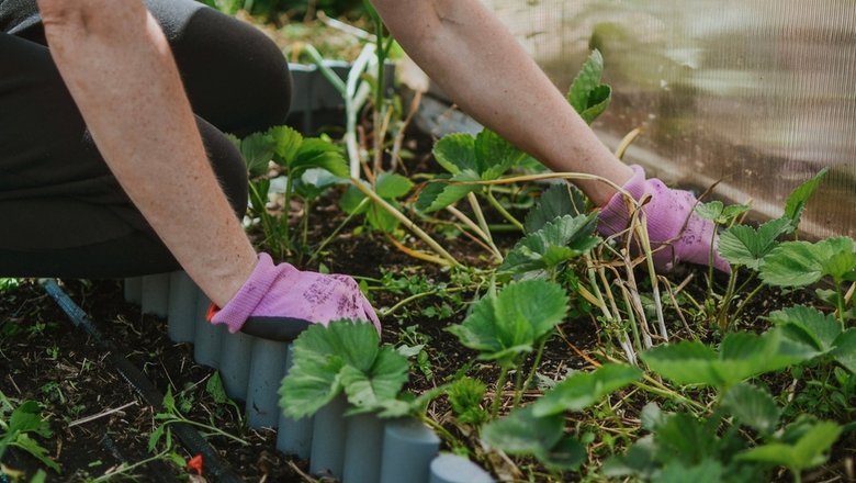
M532 406L526 406L484 425L482 439L510 454L544 454L560 442L563 431L563 415L538 417Z

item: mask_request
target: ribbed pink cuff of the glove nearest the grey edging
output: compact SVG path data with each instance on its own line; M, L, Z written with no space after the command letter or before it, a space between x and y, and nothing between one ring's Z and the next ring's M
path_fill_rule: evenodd
M259 254L259 260L256 268L252 269L252 273L244 282L238 293L210 317L211 323L225 324L232 334L240 330L247 318L252 315L252 312L268 294L273 282L280 277L280 272L278 267L273 265L270 255Z

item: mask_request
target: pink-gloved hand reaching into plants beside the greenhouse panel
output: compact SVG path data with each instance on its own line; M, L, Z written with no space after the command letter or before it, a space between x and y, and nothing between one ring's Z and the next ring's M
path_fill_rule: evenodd
M640 166L631 168L633 177L622 188L637 201L645 194L651 195L651 201L642 210L647 220L651 249L656 250L654 267L658 271L669 271L680 261L708 266L712 242L713 267L725 273L731 272L729 263L716 250L719 236L713 235L713 222L698 216L694 211L696 196L688 191L672 190L656 178L645 179L645 172ZM620 192L602 207L598 218L598 232L604 236L627 229L630 214Z

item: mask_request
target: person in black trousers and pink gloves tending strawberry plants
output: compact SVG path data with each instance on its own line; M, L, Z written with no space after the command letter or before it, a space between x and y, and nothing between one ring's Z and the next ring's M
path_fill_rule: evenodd
M667 270L708 263L695 198L617 159L478 0L374 0L391 33L485 126L555 171L624 187ZM239 223L236 135L281 124L286 63L251 26L191 0L0 0L0 274L117 278L183 268L212 323L372 322L346 276L257 254ZM609 183L577 186L605 235L630 214ZM714 242L716 243L716 242ZM721 259L714 266L728 270Z

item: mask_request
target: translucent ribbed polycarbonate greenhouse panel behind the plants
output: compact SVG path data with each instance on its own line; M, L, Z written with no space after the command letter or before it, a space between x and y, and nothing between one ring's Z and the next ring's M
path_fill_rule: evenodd
M778 216L830 168L801 228L856 237L856 1L485 0L562 89L604 55L594 127L667 182Z

